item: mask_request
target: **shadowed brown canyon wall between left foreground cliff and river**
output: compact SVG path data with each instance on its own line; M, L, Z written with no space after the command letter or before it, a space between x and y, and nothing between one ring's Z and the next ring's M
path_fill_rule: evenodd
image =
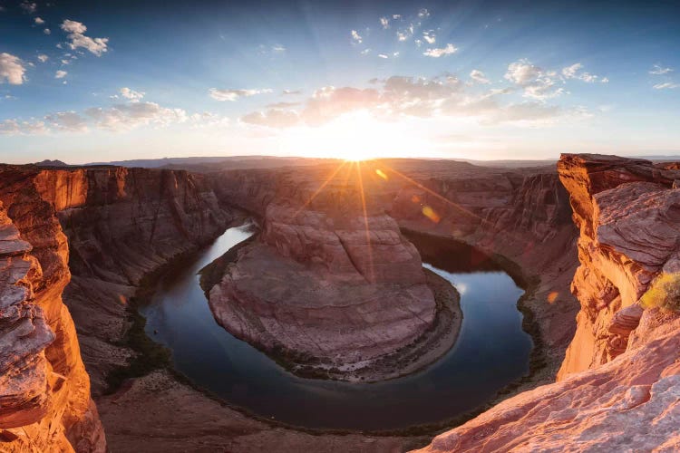
M72 278L64 302L99 395L111 371L135 356L121 343L144 277L208 244L232 214L200 175L182 170L45 170L34 180L68 237Z

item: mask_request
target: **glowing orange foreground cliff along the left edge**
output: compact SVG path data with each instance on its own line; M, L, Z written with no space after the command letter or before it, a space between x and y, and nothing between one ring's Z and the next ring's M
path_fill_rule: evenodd
M62 302L68 246L35 173L0 168L4 451L105 451L90 380Z

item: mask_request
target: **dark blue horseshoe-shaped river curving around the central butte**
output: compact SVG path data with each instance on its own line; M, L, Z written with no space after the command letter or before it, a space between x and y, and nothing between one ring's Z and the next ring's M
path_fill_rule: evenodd
M516 307L522 290L492 265L473 265L474 249L459 245L455 253L438 248L445 256L423 253L437 265L425 267L461 293L461 333L442 359L372 384L298 378L219 327L199 286L199 269L252 234L251 226L229 228L183 269L164 275L141 308L147 334L170 348L176 369L233 404L309 428L399 429L474 409L529 370L532 343Z

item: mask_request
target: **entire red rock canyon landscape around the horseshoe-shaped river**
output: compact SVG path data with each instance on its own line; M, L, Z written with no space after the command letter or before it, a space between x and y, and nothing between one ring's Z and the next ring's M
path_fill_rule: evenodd
M678 448L680 322L636 303L658 273L678 271L675 179L673 166L589 155L564 155L559 172L418 159L205 174L2 167L0 340L10 352L0 357L2 448L104 451L108 442L126 451L144 442L148 451L400 451L427 444L431 436L297 430L211 398L163 364L162 352L150 366L148 350L134 341L136 299L160 269L245 212L261 234L224 266L210 304L220 323L265 349L292 332L281 342L287 348L355 364L348 344L359 326L375 329L361 339L362 359L422 335L435 301L403 232L474 245L525 287L519 305L535 342L531 373L497 401L510 398L426 451L549 450L571 441L584 450L671 451ZM310 307L293 306L291 282L313 293L305 300L321 294L331 306L347 298L334 286L362 294L345 332L320 343L321 331L277 330L281 318L290 325L310 319ZM378 286L399 313L373 292ZM275 298L295 310L269 312L262 301ZM247 313L257 318L244 321ZM329 310L316 321L325 329L337 320ZM526 431L528 424L535 429ZM624 434L624 426L634 429Z

